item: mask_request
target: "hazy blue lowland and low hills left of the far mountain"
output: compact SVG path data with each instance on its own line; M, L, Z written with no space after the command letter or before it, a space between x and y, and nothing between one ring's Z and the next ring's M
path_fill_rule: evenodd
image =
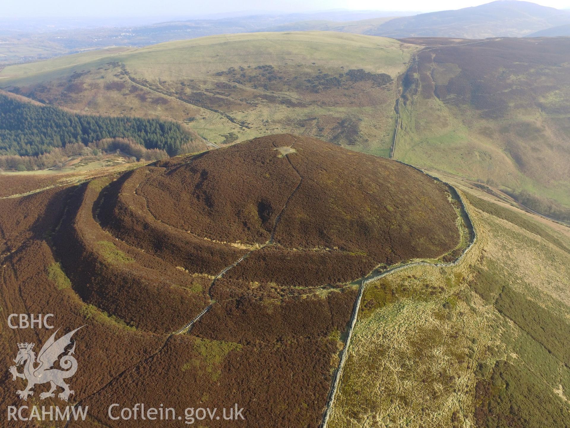
M409 12L408 12L409 13ZM324 11L318 13L257 14L234 17L215 16L207 19L168 21L153 24L129 20L123 25L116 21L85 19L51 19L23 21L0 18L0 67L11 63L30 62L54 56L80 53L109 46L143 47L161 42L193 39L207 35L322 29L363 33L374 30L380 23L404 12L382 11ZM372 24L369 19L379 19ZM359 25L337 29L342 21ZM360 22L363 22L360 23ZM322 28L321 28L322 27ZM275 30L282 31L282 30Z

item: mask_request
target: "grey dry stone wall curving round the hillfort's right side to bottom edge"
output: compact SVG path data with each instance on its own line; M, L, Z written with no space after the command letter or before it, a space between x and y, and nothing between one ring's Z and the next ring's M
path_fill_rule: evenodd
M408 165L408 164L401 162L401 161L398 161L398 160L397 160L397 162L400 162L404 165ZM431 176L430 174L428 174L427 172L423 171L420 168L414 167L413 165L408 165L408 166L416 169L417 171L421 171L425 175L431 177L431 179L445 183L445 181L442 181L442 180L438 179L437 177ZM333 375L331 390L329 391L329 394L327 397L327 403L325 405L325 410L323 413L323 419L321 421L320 428L326 428L327 427L328 419L329 419L330 414L331 414L332 405L335 401L336 392L337 392L337 389L339 387L340 378L342 377L342 374L343 374L344 364L347 360L348 348L349 348L350 343L351 343L352 332L353 332L355 325L356 325L356 320L358 317L358 311L360 308L360 301L361 301L361 298L364 294L364 289L366 288L366 285L369 282L374 282L374 281L380 280L381 278L383 278L385 276L388 276L390 274L399 272L400 270L404 270L404 269L408 269L408 268L412 268L412 267L417 267L417 266L431 266L431 267L439 267L439 268L454 267L454 266L458 265L459 263L461 263L461 261L463 260L463 258L467 254L467 252L473 247L473 245L477 241L477 231L475 230L473 220L471 220L471 216L469 215L469 211L467 210L467 207L466 207L465 201L463 200L463 197L461 196L461 194L459 192L457 192L457 189L455 189L451 184L449 184L449 183L445 183L445 184L449 185L449 187L452 188L454 190L454 192L457 194L458 200L461 203L462 210L463 210L463 212L465 212L465 215L467 218L466 226L471 232L471 242L463 250L461 255L457 259L455 259L454 261L452 261L450 263L429 263L426 261L416 261L416 262L407 263L407 264L403 264L403 265L399 265L399 266L394 266L392 268L385 270L381 274L370 273L368 276L360 278L359 281L361 281L361 284L359 286L359 290L358 290L358 294L356 296L355 304L354 304L354 307L352 309L351 324L349 325L347 338L344 342L343 350L341 351L339 366L337 367L335 374Z

